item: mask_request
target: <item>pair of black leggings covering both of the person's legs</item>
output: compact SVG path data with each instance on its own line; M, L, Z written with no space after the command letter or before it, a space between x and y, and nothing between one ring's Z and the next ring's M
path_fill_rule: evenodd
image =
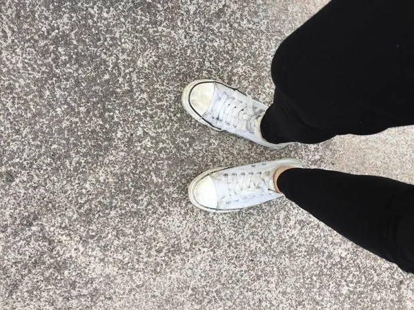
M267 141L414 125L414 2L331 1L280 45L272 76ZM339 234L414 272L414 185L317 169L290 169L278 185Z

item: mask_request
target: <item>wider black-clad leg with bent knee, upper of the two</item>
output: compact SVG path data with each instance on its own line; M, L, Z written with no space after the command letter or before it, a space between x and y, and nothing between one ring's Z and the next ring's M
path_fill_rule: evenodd
M414 2L333 0L291 34L272 63L271 143L318 143L414 124Z

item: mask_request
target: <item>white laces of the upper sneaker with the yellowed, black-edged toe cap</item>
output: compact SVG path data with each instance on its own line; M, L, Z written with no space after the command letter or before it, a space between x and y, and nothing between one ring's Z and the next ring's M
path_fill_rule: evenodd
M235 91L236 92L236 91ZM234 92L233 92L234 94ZM264 110L257 109L251 96L247 96L246 101L236 100L235 96L230 96L224 92L221 100L212 112L208 112L213 123L226 122L226 125L233 125L237 130L255 133L255 121L264 114Z

